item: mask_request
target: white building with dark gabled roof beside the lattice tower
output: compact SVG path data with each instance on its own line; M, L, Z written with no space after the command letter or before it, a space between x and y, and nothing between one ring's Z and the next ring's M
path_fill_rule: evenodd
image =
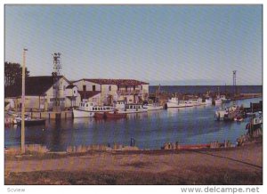
M52 76L27 77L25 80L25 108L26 109L53 109L58 101L61 109L75 107L80 102L77 86L71 85L66 77L59 77L58 95L55 95L55 84ZM21 87L6 90L6 99L14 101L14 108L20 108Z

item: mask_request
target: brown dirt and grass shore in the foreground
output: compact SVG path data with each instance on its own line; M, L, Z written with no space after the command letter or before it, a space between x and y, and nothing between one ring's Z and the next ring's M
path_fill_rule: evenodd
M8 185L263 184L263 141L229 149L92 151L54 158L5 158L4 167L4 183Z

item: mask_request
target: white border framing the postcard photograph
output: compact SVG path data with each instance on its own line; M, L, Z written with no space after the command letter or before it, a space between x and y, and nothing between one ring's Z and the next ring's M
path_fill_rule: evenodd
M18 1L18 0L4 0L1 1L1 9L0 9L0 15L3 17L2 20L0 20L0 24L1 24L1 36L4 39L4 4L62 4L62 1L59 0L55 0L52 2L44 2L44 1L40 1L40 0L36 0L36 1ZM170 0L166 0L166 1L147 1L147 0L128 0L128 1L122 1L122 0L116 0L116 1L105 1L105 0L93 0L90 2L85 2L85 1L80 1L77 0L75 1L69 1L69 0L65 0L63 1L64 4L214 4L214 1L180 1L180 2L175 2L175 1L170 1ZM219 1L216 2L216 4L232 4L232 1L229 0L225 0L225 1ZM236 0L234 1L234 4L263 4L263 1L240 1L240 0ZM264 23L267 20L266 18L266 14L264 14L266 11L266 8L264 7L263 4L263 32L265 32L264 30ZM265 34L265 33L264 33ZM263 36L264 36L263 34ZM263 38L264 41L264 38ZM265 41L264 41L265 42ZM263 42L263 45L264 45ZM264 47L264 46L263 46ZM263 49L263 56L266 56L266 50ZM2 173L0 176L0 182L1 182L1 193L8 193L7 189L8 188L12 188L12 189L16 189L16 188L20 188L20 189L25 189L26 192L25 193L77 193L77 192L84 192L84 193L126 193L126 194L137 194L137 193L179 193L181 192L180 188L182 186L6 186L4 185L4 41L1 41L1 57L2 57L2 61L3 61L3 65L1 66L1 73L2 73L2 85L1 87L1 94L0 94L0 109L2 109L3 111L1 111L1 117L3 119L3 123L1 122L1 125L3 126L2 128L2 135L0 138L1 141L1 146L0 146L0 151L1 151L1 168L0 168L0 172ZM263 67L263 71L264 71L264 67ZM263 92L266 91L266 84L265 84L265 80L263 79ZM264 100L265 101L265 96L263 95ZM263 103L264 106L265 103ZM265 110L265 106L264 106L264 110ZM265 119L264 119L264 123L265 123ZM264 129L263 129L264 130ZM263 132L264 133L264 132ZM266 143L263 144L263 150L266 150ZM264 151L265 152L265 151ZM266 157L265 157L265 153L263 153L263 169L266 168L265 166L265 161L266 161ZM266 174L263 173L263 181L266 182ZM264 184L263 184L264 185ZM192 187L192 186L189 186ZM198 187L202 187L205 188L206 186L198 186ZM247 187L247 186L240 186L240 187ZM264 186L257 186L260 188L261 193L265 190ZM10 192L11 193L11 192Z

